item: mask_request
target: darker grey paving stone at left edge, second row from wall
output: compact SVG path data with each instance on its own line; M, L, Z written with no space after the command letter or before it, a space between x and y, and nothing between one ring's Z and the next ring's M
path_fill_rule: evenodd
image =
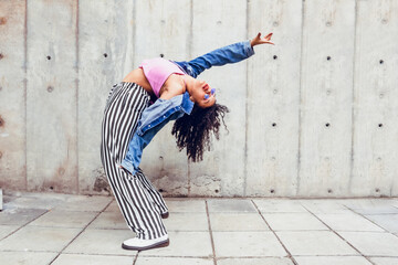
M0 212L0 224L24 225L45 212L42 209L6 209Z

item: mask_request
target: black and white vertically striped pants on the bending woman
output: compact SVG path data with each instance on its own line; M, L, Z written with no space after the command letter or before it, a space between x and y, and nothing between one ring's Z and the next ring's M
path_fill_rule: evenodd
M160 214L168 210L143 171L132 176L119 165L149 99L149 94L137 84L114 85L105 106L101 142L102 163L117 204L127 225L143 240L167 234Z

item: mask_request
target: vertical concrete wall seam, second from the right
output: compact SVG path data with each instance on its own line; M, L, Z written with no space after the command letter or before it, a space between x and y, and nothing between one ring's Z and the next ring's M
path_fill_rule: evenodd
M302 120L301 120L301 115L302 115L302 109L301 109L301 105L302 105L302 77L303 77L303 43L304 43L304 12L305 12L305 0L302 0L302 24L301 24L301 46L300 46L300 86L298 86L298 147L297 147L297 186L296 186L296 194L297 195L300 193L300 181L301 181L301 171L300 171L300 165L301 165L301 136L302 136Z

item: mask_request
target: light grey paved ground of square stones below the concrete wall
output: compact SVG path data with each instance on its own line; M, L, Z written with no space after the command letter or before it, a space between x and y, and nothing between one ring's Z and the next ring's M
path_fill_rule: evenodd
M168 199L170 245L133 236L109 197L4 195L0 264L398 265L398 199Z

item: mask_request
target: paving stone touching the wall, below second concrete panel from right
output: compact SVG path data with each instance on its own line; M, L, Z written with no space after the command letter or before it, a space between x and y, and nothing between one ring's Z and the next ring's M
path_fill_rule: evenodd
M300 200L300 203L312 213L347 213L344 200Z

